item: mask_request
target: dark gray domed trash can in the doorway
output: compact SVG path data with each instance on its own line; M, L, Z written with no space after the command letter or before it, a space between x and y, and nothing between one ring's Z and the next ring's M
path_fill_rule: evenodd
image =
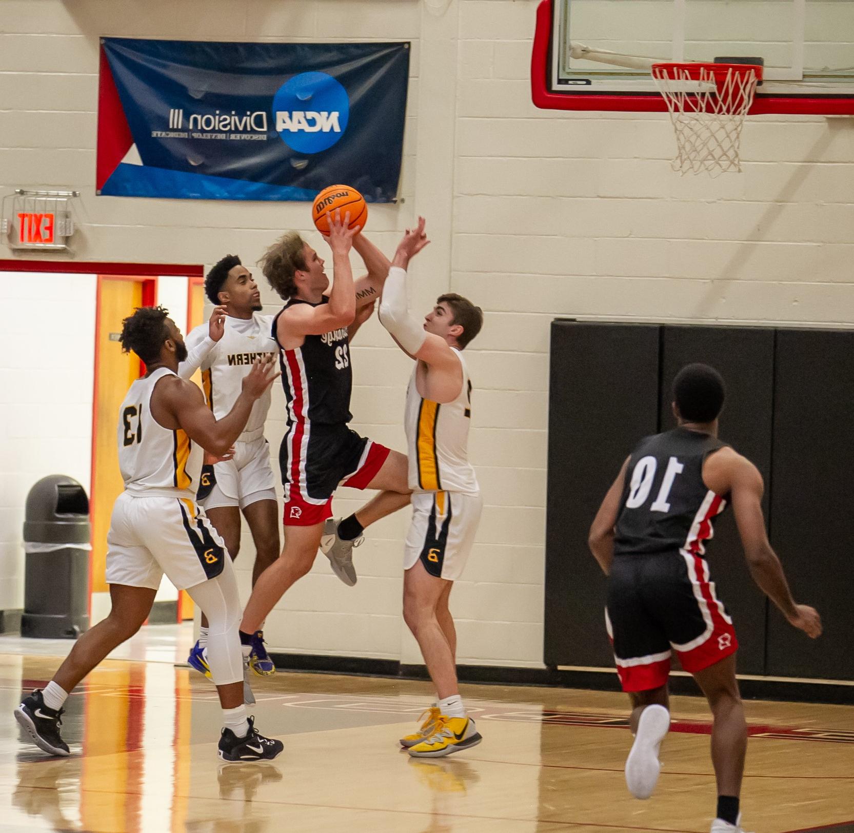
M76 639L89 627L89 498L65 475L26 496L22 637Z

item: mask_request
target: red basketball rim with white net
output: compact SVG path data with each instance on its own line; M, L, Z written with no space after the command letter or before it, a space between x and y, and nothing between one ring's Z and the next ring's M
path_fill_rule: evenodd
M676 130L674 171L740 172L741 128L762 67L726 63L657 63L652 78Z

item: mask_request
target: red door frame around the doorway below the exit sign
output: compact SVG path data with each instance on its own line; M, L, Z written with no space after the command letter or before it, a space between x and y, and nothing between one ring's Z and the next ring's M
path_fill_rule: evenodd
M141 281L143 283L143 305L149 306L157 300L157 277L161 275L178 275L187 278L187 296L190 298L191 284L201 283L204 280L204 268L200 265L182 265L173 263L116 263L103 261L70 261L70 260L15 260L0 259L0 272L68 272L75 274L96 275L96 307L95 307L95 356L94 356L94 380L92 386L92 441L90 460L90 482L89 482L89 506L94 504L93 490L95 486L95 455L96 455L96 404L98 396L98 329L101 325L101 282L102 278L108 277L113 280ZM189 323L190 306L187 307ZM91 516L90 516L91 523ZM178 596L180 599L180 595ZM92 610L92 571L91 563L89 570L89 615Z

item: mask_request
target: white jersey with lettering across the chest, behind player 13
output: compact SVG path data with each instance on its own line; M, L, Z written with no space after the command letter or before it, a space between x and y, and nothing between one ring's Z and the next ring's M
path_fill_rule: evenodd
M254 312L249 319L225 317L225 333L202 361L202 390L213 416L222 419L240 396L243 377L256 358L278 353L271 335L272 315ZM208 324L200 324L187 336L188 347L208 335ZM264 421L270 410L270 390L252 406L246 428L237 438L251 442L264 435Z

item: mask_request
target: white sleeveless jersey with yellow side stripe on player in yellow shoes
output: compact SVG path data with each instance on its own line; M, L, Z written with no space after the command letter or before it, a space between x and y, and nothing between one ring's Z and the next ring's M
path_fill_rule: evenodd
M404 418L409 487L413 492L480 492L468 451L471 379L462 353L453 352L463 368L463 386L453 402L439 404L420 396L416 385L417 362L409 380Z

